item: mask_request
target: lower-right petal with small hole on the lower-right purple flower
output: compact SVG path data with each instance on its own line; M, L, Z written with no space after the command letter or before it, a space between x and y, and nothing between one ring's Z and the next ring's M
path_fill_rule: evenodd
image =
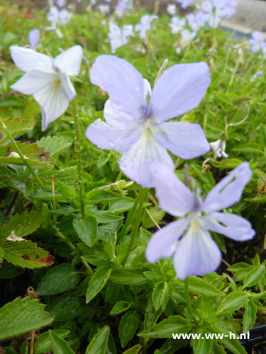
M256 233L248 220L235 214L212 212L209 215L203 215L201 220L207 229L230 237L235 241L253 239Z

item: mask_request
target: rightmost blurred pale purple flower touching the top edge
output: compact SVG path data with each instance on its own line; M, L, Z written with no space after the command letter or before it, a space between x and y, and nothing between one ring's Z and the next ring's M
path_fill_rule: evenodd
M212 3L204 1L201 4L204 11L204 20L209 23L211 28L217 28L223 17L228 16L226 0L214 0Z

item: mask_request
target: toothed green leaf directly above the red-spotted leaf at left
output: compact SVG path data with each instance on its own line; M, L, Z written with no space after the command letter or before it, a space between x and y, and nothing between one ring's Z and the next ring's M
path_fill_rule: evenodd
M11 232L13 231L16 236L23 237L34 232L40 226L40 212L33 210L33 212L28 213L23 212L23 214L16 214L7 224L4 224L0 232L0 244L6 240Z

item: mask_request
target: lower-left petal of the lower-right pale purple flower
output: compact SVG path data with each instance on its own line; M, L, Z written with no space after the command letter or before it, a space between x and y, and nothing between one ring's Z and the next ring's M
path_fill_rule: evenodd
M148 243L145 256L149 263L155 263L164 257L170 257L174 253L177 241L182 236L189 218L179 219L171 222L153 234Z

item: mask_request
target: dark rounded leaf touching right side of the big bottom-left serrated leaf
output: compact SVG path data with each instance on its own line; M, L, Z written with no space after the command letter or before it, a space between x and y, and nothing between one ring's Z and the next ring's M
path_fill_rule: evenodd
M71 294L64 294L57 297L47 308L47 311L54 316L54 321L65 321L73 319L82 313L79 297L72 297Z

